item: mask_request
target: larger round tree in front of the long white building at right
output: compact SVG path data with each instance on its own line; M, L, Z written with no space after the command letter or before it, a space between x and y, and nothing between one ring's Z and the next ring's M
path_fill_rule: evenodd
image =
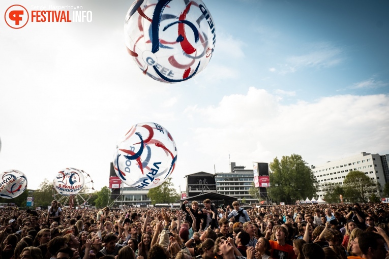
M377 193L379 185L364 172L355 170L344 178L343 188L351 202L367 202L373 193Z

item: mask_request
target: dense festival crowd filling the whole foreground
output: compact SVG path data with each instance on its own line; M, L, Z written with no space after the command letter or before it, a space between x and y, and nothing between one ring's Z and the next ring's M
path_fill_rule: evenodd
M346 259L386 257L383 204L2 211L1 259Z

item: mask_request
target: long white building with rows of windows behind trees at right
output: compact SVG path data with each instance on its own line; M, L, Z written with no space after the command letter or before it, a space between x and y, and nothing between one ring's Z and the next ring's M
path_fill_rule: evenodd
M364 172L370 179L376 180L383 187L389 179L387 158L389 158L389 155L362 152L336 161L328 161L318 167L311 166L313 174L319 182L317 195L319 197L324 196L325 184L343 184L343 180L347 174L355 170Z

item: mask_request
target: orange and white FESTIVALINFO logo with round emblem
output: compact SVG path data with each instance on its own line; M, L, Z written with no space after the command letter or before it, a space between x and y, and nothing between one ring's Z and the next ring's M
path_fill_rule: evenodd
M28 13L21 5L10 6L4 18L8 26L14 29L24 27L30 22L92 22L92 11L84 11L82 6L31 6ZM31 17L30 17L31 15ZM31 19L30 19L31 18Z

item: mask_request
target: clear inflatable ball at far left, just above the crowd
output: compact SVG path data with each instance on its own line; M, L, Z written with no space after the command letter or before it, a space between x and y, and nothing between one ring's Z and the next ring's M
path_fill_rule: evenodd
M16 198L27 189L27 178L18 170L8 170L3 172L0 181L1 198Z

